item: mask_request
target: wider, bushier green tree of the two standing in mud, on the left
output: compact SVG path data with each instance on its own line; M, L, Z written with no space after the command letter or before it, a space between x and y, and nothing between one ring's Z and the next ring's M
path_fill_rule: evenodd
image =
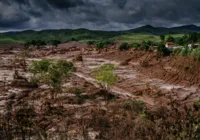
M69 77L75 71L75 68L71 62L44 59L33 62L29 67L29 71L33 74L32 81L45 83L55 90L60 90L64 78Z

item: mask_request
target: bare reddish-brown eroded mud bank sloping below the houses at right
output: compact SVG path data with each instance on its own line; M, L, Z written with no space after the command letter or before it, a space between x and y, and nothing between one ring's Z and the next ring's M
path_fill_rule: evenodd
M124 51L110 52L96 56L113 61L128 63L151 78L158 78L166 83L183 86L200 86L200 63L185 57L157 57L154 52ZM128 61L128 62L127 62Z

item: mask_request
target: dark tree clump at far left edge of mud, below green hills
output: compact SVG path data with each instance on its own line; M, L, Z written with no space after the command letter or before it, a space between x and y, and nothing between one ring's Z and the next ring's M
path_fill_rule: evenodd
M45 45L52 45L54 47L57 47L61 41L59 40L50 40L50 41L44 41L44 40L32 40L32 41L27 41L24 44L25 48L29 48L30 46L34 46L37 49L41 49Z

